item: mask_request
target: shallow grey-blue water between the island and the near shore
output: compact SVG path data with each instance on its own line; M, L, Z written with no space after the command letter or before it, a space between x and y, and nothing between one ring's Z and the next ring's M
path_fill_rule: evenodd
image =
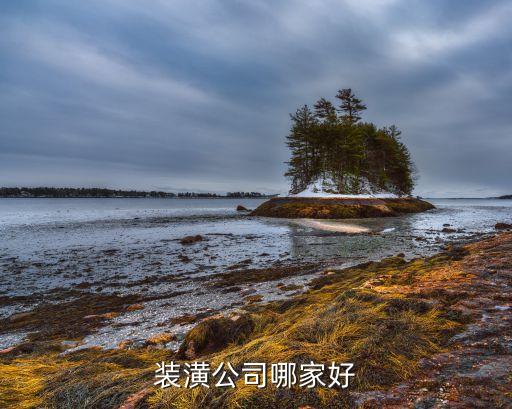
M120 340L157 332L183 333L186 326L157 327L172 317L240 304L238 292L212 290L213 274L233 269L321 262L347 266L404 253L432 254L446 241L466 241L512 222L511 200L431 200L437 207L399 218L300 221L249 218L238 204L255 199L0 199L0 317L58 302L63 290L140 294L145 308L121 315L90 335L85 345L113 347ZM444 224L456 229L443 233ZM362 232L361 234L347 234ZM205 240L183 246L179 239ZM234 266L234 267L233 267ZM243 268L236 268L243 270ZM241 273L242 274L242 273ZM150 278L151 280L148 280ZM305 284L312 275L279 280ZM265 300L286 296L276 282L244 286ZM0 348L25 334L1 334Z

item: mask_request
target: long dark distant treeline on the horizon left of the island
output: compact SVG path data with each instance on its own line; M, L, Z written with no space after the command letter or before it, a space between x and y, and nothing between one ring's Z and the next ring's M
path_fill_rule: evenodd
M130 197L130 198L264 198L258 192L228 192L226 195L216 193L170 193L160 191L139 191L139 190L114 190L102 188L69 188L69 187L0 187L0 197L50 197L50 198L72 198L72 197Z

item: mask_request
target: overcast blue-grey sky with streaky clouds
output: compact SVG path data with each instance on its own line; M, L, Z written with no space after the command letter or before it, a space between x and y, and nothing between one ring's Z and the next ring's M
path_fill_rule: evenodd
M512 1L0 3L0 185L285 191L290 112L351 87L416 193L512 193Z

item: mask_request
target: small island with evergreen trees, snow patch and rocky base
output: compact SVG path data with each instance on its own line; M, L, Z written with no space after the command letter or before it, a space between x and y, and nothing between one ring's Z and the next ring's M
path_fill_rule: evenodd
M350 88L339 106L320 98L291 115L289 195L272 198L251 215L348 219L399 216L433 209L411 197L415 168L401 131L361 122L366 105Z

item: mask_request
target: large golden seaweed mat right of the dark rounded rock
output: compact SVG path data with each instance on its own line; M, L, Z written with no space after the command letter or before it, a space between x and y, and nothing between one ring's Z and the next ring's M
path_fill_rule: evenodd
M255 330L243 345L207 357L212 365L231 362L354 362L356 378L351 390L385 389L414 374L421 358L442 349L461 324L445 317L442 308L395 291L381 293L367 288L371 277L376 288L393 282L414 282L415 275L445 277L445 264L459 254L405 264L400 258L369 263L317 280L316 290L293 301L254 307ZM405 277L404 277L404 273ZM399 288L403 289L405 284ZM201 358L203 359L203 358ZM231 389L170 389L148 399L152 408L296 408L347 407L347 392L292 388L276 390L244 385Z

